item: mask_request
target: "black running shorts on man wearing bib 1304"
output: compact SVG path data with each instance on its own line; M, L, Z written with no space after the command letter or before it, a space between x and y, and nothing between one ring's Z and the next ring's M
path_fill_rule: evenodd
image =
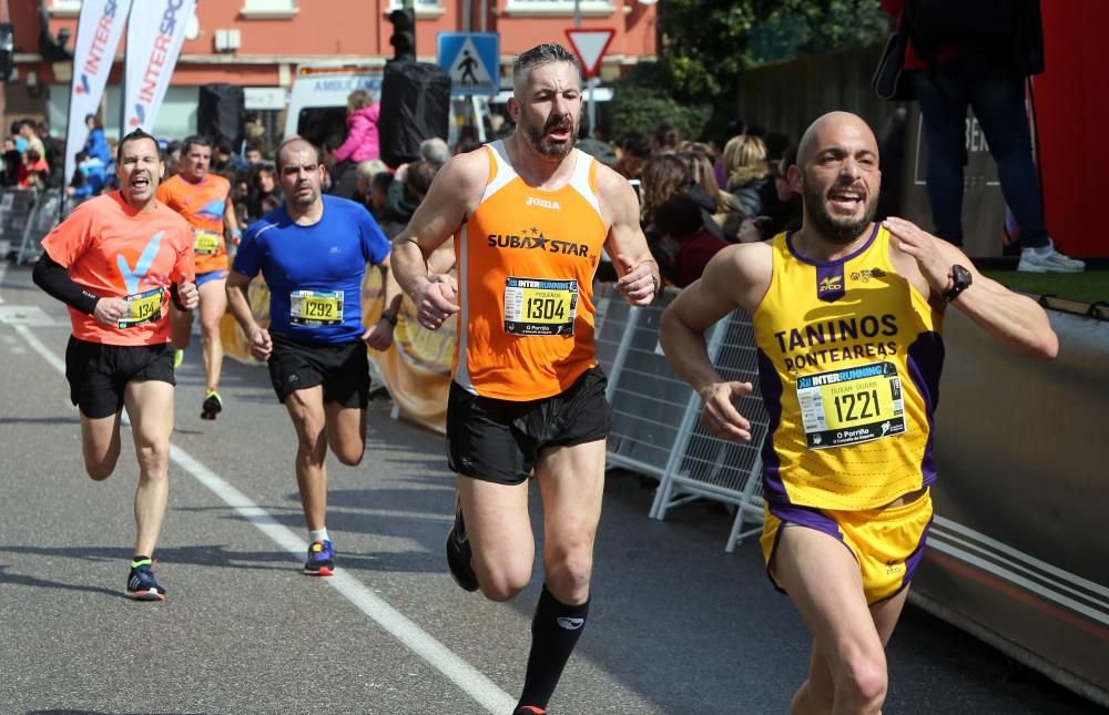
M604 399L607 385L604 372L593 367L559 395L517 402L479 397L451 382L447 398L450 469L464 477L519 484L531 473L542 448L604 439L612 423Z

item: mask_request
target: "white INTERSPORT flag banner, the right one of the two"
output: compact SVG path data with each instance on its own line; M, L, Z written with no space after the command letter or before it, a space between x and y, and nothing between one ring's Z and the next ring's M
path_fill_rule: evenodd
M196 0L140 0L128 23L123 134L150 132L170 88Z

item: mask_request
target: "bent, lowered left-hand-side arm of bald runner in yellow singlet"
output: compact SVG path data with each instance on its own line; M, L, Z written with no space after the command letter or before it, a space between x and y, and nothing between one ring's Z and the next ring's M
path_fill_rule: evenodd
M735 401L754 387L720 376L709 359L704 334L736 308L753 313L770 285L771 268L767 244L724 248L709 262L701 278L667 307L659 324L667 359L704 401L701 421L705 429L722 439L751 440L751 422L735 409Z

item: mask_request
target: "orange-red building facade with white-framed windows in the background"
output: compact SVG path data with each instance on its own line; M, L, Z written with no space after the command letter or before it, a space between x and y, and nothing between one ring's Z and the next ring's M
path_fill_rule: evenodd
M73 49L81 0L10 4L16 76L3 85L3 126L14 119L44 120L51 134L60 136L65 132L72 62L59 55ZM653 1L414 0L417 59L436 61L440 32L498 32L503 81L519 52L541 42L567 44L576 6L581 29L614 31L600 68L602 80L654 59ZM195 131L200 88L225 83L245 88L247 111L258 112L274 130L271 135L278 136L297 68L384 63L394 53L388 14L401 7L400 0L199 0L154 132L181 137ZM109 136L120 133L124 42L102 102Z

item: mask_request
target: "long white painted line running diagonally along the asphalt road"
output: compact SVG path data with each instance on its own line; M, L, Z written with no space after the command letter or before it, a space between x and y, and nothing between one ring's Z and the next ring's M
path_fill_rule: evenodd
M0 275L0 280L2 280L2 275ZM31 333L29 327L24 325L13 327L27 344L42 356L42 359L62 375L65 374L65 364L50 348L43 345ZM304 556L308 550L308 544L289 529L277 523L272 515L254 503L246 494L232 487L218 474L193 459L185 450L174 445L170 446L170 459L179 468L189 472L193 479L212 490L216 497L242 514L244 519L257 527L262 533L269 537L278 547L297 558ZM500 690L496 683L486 677L480 671L455 655L447 646L424 632L416 623L367 589L357 579L348 576L340 571L329 579L323 579L323 581L373 619L391 634L393 637L408 646L413 653L419 655L431 667L442 673L447 680L457 685L459 690L474 698L478 705L489 713L502 715L503 713L512 712L512 708L516 707L515 697Z

